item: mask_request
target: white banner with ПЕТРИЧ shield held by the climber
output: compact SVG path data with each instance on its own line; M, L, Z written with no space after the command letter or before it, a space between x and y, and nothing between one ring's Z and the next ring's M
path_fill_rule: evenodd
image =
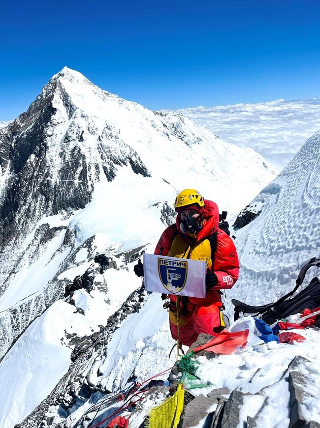
M147 291L187 297L205 297L207 264L200 260L143 254Z

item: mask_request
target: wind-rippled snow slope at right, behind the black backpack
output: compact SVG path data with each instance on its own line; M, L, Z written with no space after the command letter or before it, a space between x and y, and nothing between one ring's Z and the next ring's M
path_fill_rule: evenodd
M230 298L260 305L294 287L301 267L320 257L320 132L254 199L261 214L236 233L240 278ZM319 274L319 273L318 273Z

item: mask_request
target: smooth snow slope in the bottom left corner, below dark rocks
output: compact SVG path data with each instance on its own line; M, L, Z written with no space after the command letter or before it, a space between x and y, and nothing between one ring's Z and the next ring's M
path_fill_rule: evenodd
M94 323L61 300L32 323L0 364L1 428L22 422L66 373L71 355L67 337L94 331Z

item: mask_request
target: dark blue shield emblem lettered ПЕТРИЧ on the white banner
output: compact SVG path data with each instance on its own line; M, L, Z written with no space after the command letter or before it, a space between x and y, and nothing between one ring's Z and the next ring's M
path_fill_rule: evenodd
M187 280L188 262L186 260L168 260L158 257L159 277L169 294L181 291Z

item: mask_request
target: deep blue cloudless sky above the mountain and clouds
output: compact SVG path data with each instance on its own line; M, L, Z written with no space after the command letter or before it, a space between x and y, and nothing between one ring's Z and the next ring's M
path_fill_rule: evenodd
M2 120L64 66L153 110L320 97L320 0L4 0L0 47Z

